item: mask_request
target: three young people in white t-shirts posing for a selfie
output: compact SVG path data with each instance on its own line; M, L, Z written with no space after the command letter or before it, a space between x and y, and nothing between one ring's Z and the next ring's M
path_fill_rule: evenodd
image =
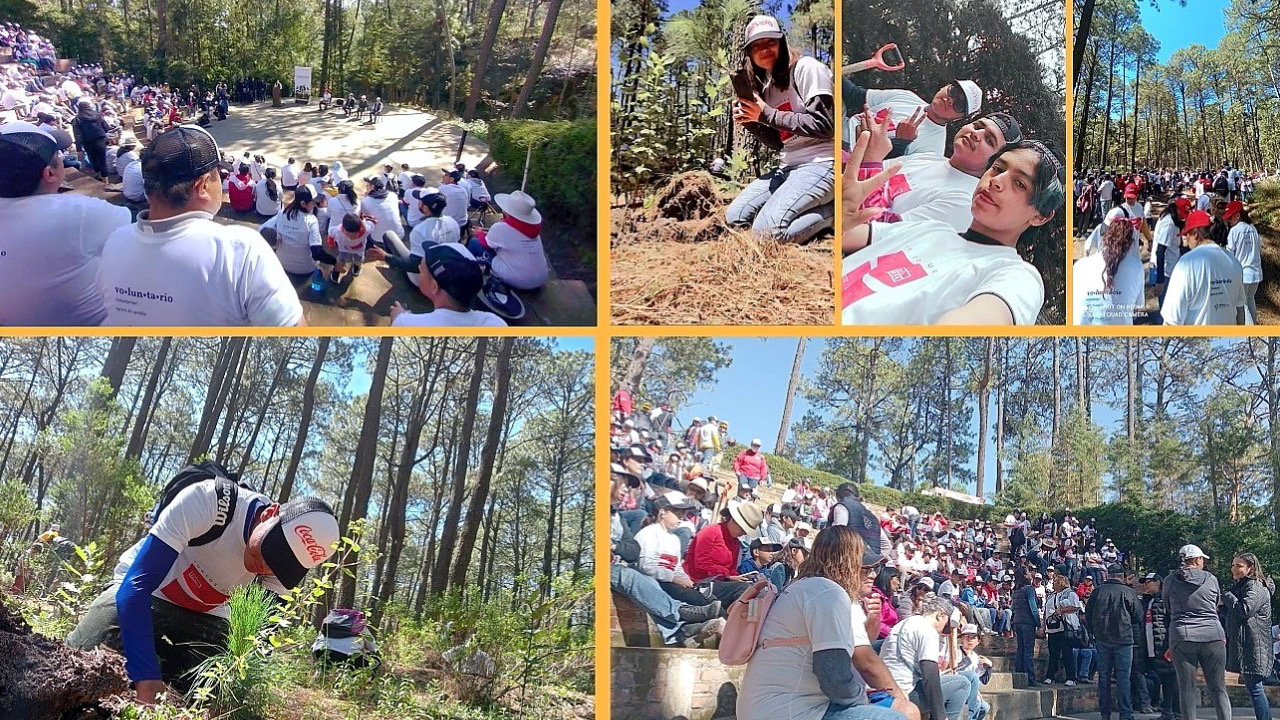
M1034 324L1044 302L1025 250L1062 208L1062 154L1007 113L982 113L972 79L868 88L850 76L900 70L883 53L845 67L841 322ZM947 126L959 123L950 147Z

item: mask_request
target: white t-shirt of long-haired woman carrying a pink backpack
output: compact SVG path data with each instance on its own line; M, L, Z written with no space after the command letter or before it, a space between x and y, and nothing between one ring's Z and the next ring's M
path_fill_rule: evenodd
M813 674L813 653L852 652L852 618L849 593L827 578L801 578L787 585L769 607L760 639L809 642L755 651L739 685L739 720L822 720L831 701Z

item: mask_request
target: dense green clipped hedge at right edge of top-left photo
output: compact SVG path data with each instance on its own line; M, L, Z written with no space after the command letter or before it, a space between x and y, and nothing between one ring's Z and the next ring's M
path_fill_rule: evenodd
M489 123L489 150L502 182L520 187L525 155L534 149L526 191L543 217L568 229L584 251L595 247L595 120Z

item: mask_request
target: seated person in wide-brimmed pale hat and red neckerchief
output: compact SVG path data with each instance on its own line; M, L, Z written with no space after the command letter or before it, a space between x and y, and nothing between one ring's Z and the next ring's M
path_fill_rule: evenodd
M494 204L502 220L467 247L489 263L493 275L516 290L538 290L547 284L550 266L543 251L543 215L532 197L521 191L499 192Z

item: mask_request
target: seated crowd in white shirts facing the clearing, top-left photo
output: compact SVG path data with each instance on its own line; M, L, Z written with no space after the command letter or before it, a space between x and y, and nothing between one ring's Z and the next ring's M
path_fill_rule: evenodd
M261 81L180 91L100 65L44 72L3 76L15 118L0 124L0 220L13 231L0 238L0 324L294 325L307 292L344 292L344 277L380 260L434 306L396 302L393 325L498 327L524 313L513 291L549 279L536 201L490 195L477 169L388 164L357 179L340 160L276 168L224 152L201 127L232 96L261 96ZM45 88L47 77L58 82ZM67 168L118 181L123 204L63 193Z

